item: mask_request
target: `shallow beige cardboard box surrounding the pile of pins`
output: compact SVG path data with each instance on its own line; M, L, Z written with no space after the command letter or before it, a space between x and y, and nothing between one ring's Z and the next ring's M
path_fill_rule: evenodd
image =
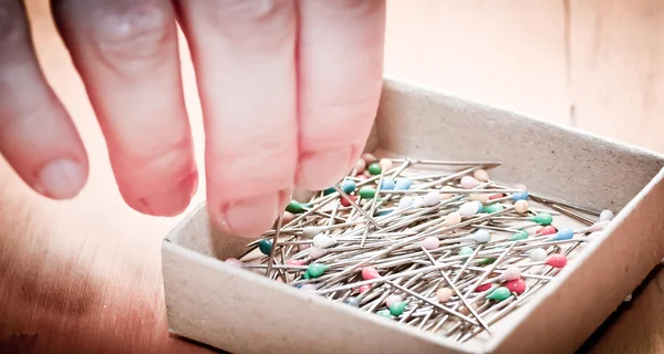
M225 264L248 240L210 229L201 205L163 243L170 331L232 353L569 353L664 258L661 155L395 80L367 150L500 160L495 180L622 211L489 340L456 344Z

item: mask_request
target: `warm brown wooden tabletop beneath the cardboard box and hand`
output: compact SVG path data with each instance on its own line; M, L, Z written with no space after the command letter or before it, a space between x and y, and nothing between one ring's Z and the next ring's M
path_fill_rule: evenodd
M386 73L664 150L657 134L663 3L388 0ZM210 352L166 330L159 242L181 216L146 217L122 201L48 1L27 4L39 59L83 136L92 170L79 198L56 202L38 197L0 163L0 352ZM186 46L181 58L203 167ZM203 180L199 186L190 209L205 196ZM660 274L609 327L596 353L664 350L663 284Z

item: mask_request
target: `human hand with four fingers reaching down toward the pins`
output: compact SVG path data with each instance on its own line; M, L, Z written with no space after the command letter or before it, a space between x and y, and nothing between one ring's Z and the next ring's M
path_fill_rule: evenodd
M52 0L124 200L175 216L197 188L177 18L206 131L207 202L227 232L269 229L293 187L357 160L376 112L384 0ZM34 190L76 196L85 149L34 55L21 0L0 0L0 152Z

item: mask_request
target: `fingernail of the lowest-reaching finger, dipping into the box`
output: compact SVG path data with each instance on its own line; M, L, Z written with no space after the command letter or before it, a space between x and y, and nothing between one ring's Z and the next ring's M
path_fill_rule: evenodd
M280 192L274 191L232 202L221 209L221 227L232 236L258 237L274 222Z

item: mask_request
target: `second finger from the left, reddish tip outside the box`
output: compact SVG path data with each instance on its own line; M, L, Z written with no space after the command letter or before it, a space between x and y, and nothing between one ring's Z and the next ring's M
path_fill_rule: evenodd
M123 198L144 214L181 212L198 173L170 2L53 0L52 6Z

